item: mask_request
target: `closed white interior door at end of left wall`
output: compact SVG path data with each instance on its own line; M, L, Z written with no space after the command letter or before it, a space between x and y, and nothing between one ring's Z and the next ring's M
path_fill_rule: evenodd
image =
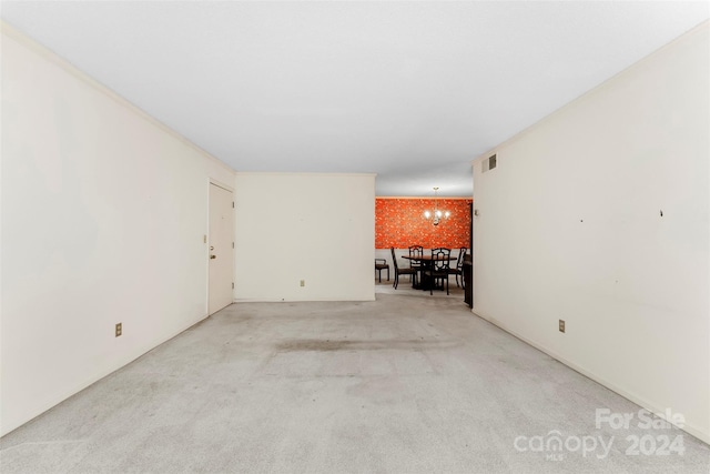
M234 208L232 191L210 184L210 283L207 313L232 304L234 269Z

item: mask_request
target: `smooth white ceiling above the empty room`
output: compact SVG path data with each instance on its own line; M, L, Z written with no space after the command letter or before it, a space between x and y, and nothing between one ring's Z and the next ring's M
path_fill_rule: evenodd
M237 171L471 195L470 160L710 3L2 1L2 18Z

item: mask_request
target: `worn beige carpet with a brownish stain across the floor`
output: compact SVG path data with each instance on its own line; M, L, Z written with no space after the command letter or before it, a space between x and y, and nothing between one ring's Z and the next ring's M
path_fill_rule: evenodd
M475 316L460 290L389 284L374 302L231 305L3 437L0 471L710 471L682 431L597 427L597 409L639 407ZM662 436L683 454L660 455ZM655 450L629 453L643 438Z

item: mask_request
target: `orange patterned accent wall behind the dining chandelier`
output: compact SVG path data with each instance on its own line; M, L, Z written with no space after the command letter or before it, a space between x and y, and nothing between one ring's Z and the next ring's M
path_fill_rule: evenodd
M449 211L452 215L434 225L432 221L424 219L425 210L434 210L434 199L376 198L375 248L470 248L471 202L470 199L438 199L438 209Z

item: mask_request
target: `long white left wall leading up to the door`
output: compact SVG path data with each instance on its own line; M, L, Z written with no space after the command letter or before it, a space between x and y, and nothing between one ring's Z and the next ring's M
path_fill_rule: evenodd
M3 24L2 434L205 317L211 178L234 182Z

